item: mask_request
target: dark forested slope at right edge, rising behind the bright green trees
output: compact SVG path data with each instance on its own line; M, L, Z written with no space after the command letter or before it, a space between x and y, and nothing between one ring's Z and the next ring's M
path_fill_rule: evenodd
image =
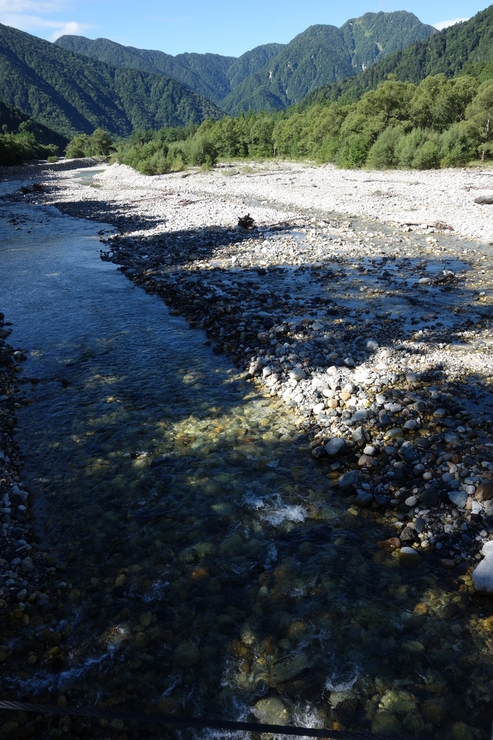
M336 100L341 95L356 100L368 90L374 90L389 75L402 82L418 84L429 75L454 77L476 73L493 77L493 5L463 23L445 28L440 33L418 41L391 56L378 61L353 79L327 85L308 95L303 107L324 100Z

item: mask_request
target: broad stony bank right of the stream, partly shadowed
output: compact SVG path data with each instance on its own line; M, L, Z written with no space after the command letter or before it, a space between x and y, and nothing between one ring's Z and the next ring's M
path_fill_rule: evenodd
M471 224L462 213L453 226L443 210L421 224L353 223L320 203L280 205L296 190L277 189L274 201L270 170L245 169L146 178L114 165L95 176L96 187L67 172L17 197L112 224L102 258L204 329L214 352L298 413L328 488L347 494L351 515L366 512L394 529L384 552L406 564L433 557L467 587L482 561L475 585L491 592L491 266L481 242L453 236L484 237L489 214ZM273 169L308 176L329 201L340 183L328 185L328 175L349 177ZM460 180L469 193L471 178L486 187L490 177L413 175L428 177L428 194L440 178L441 192ZM238 225L247 211L251 220ZM365 211L360 201L358 217Z

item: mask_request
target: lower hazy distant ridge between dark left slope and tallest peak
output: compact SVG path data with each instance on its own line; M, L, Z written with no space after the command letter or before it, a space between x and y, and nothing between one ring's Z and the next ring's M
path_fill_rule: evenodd
M245 77L261 69L282 49L282 44L265 44L236 58L220 54L188 53L171 56L163 51L122 46L109 39L92 41L84 36L60 36L55 44L115 67L173 77L216 105Z

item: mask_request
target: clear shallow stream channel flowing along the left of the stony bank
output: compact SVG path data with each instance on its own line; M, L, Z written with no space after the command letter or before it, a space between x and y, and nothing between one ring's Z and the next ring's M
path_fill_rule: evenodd
M46 655L6 683L84 705L486 737L492 669L467 594L425 558L405 570L378 550L394 533L346 513L296 418L99 260L107 227L0 209L1 308L38 381L19 410L23 474L64 573L49 626L70 633L56 670Z

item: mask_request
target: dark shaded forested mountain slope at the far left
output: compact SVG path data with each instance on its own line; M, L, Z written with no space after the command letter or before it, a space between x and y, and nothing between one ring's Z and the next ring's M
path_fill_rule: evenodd
M0 99L71 138L186 126L222 112L162 74L114 67L0 24Z

